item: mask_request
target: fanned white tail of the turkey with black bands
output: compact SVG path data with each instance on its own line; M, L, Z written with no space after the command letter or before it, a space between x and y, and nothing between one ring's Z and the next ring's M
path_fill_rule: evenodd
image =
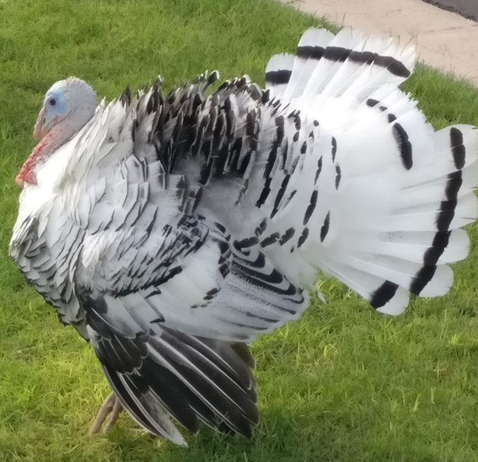
M460 228L478 216L478 130L434 132L398 89L414 59L392 40L309 30L292 64L269 62L280 85L266 77L283 105L272 120L284 117L285 157L266 169L276 189L261 238L278 240L265 252L293 282L318 266L388 314L409 293L448 292L448 264L468 255Z

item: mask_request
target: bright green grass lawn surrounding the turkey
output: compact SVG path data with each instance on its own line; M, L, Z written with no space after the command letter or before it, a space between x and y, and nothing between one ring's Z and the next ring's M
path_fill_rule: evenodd
M107 99L204 69L263 83L269 56L319 24L263 0L0 0L0 461L478 460L476 226L450 294L414 300L399 318L322 281L328 305L315 300L254 345L254 438L204 428L186 449L129 431L127 416L107 437L87 436L109 392L94 354L8 259L13 180L51 83L73 74ZM406 89L436 128L478 125L477 89L423 68Z

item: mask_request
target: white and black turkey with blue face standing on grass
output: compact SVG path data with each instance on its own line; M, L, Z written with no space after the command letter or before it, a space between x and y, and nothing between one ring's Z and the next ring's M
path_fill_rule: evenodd
M478 216L478 131L434 131L398 89L414 60L310 29L265 89L213 71L98 106L78 78L48 90L10 255L93 346L107 407L178 444L171 418L250 436L247 343L301 316L317 269L386 314L449 291Z

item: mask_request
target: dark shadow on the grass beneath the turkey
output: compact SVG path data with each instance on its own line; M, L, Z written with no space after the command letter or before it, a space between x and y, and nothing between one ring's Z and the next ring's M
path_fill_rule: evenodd
M186 436L188 447L118 427L108 439L121 443L115 443L109 455L112 460L152 462L437 460L430 448L403 445L400 438L393 440L392 433L375 438L355 411L290 403L263 411L251 440L202 427L198 434Z

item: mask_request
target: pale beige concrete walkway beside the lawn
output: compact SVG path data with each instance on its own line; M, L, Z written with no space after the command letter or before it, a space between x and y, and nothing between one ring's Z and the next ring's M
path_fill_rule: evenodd
M478 22L421 0L279 1L339 26L411 40L419 60L478 86Z

